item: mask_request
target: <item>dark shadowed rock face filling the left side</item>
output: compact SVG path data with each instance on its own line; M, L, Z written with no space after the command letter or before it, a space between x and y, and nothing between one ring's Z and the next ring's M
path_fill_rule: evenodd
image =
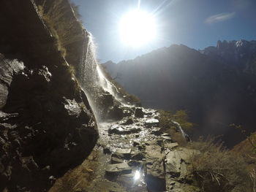
M0 7L0 191L47 191L91 153L97 125L33 1Z

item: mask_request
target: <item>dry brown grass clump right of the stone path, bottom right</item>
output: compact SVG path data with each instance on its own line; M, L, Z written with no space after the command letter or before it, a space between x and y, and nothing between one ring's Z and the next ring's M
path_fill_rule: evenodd
M200 139L187 147L200 150L192 157L192 172L202 191L252 191L246 161L214 139Z

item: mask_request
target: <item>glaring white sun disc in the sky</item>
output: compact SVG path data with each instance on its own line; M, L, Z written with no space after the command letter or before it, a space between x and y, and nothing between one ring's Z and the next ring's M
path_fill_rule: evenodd
M154 40L154 16L139 9L127 12L120 20L119 35L125 45L140 47Z

